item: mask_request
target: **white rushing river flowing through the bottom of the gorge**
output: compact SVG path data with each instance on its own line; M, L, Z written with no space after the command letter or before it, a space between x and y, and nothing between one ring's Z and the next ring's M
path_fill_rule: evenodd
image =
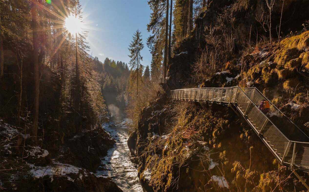
M127 122L129 119L102 124L116 143L108 150L107 156L102 158L104 167L102 171L97 171L97 174L111 177L123 191L143 191L137 175L137 166L129 158Z

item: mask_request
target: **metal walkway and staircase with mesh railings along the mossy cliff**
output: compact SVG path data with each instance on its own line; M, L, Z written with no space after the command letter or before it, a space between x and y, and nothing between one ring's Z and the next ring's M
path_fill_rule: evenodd
M255 87L178 89L171 90L171 97L177 100L234 104L282 165L309 172L309 137ZM270 104L266 114L258 107L262 99Z

